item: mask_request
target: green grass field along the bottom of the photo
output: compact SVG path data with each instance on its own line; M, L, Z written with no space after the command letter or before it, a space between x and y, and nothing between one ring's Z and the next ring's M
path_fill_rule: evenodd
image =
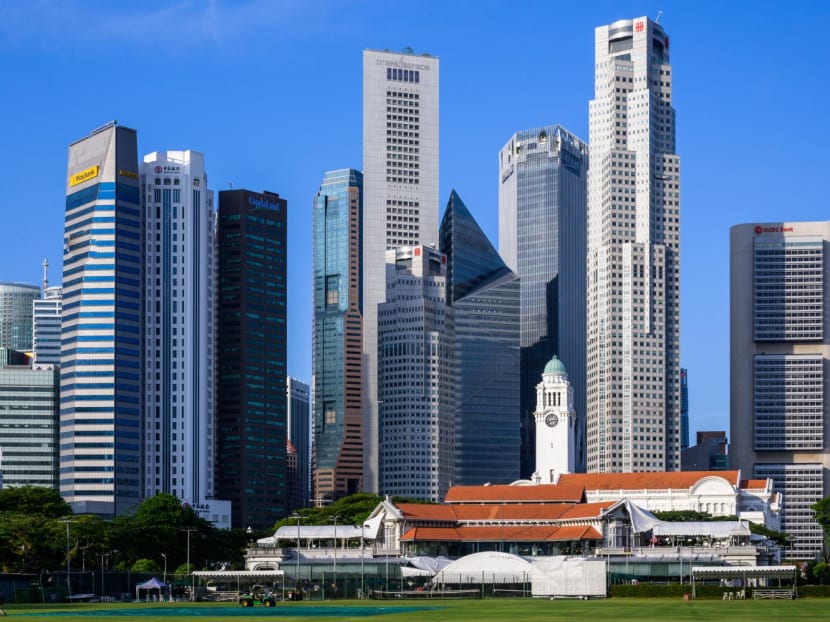
M428 622L494 620L827 620L830 601L801 600L717 601L653 598L609 600L486 599L466 601L338 601L281 603L276 607L245 609L235 603L183 604L72 604L56 606L7 605L10 618L74 622L200 622L275 619L279 622L324 619L331 622Z

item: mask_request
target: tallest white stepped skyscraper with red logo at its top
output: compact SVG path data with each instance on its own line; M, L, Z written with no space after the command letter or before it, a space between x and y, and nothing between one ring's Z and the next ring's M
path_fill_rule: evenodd
M600 26L595 41L588 470L673 471L680 469L680 158L669 38L638 17Z

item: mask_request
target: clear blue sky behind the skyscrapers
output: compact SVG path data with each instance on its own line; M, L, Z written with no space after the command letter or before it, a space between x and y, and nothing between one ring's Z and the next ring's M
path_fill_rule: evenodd
M228 0L0 4L0 281L60 281L67 147L117 119L140 156L194 149L211 187L289 210L289 373L311 377L311 202L361 168L362 51L441 60L441 206L494 244L497 153L588 140L594 27L664 13L681 164L681 360L691 429L729 429L729 227L826 220L830 3Z

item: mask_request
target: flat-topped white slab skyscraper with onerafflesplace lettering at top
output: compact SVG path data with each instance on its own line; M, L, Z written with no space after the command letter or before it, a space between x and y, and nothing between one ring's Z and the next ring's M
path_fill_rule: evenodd
M377 305L386 292L385 253L438 242L437 58L364 51L363 176L363 486L377 491Z

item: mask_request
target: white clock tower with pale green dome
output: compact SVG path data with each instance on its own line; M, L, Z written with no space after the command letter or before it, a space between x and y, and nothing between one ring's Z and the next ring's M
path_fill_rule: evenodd
M533 481L552 484L574 472L576 411L565 366L555 356L536 385L536 473Z

